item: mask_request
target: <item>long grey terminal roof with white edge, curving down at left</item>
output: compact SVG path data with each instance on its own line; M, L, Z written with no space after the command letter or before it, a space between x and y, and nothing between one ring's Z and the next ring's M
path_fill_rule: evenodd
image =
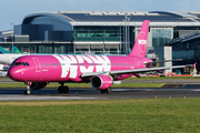
M124 18L130 25L141 25L143 20L150 20L150 25L176 27L200 25L200 12L187 11L59 11L38 12L24 18L23 24L29 24L34 19L51 17L71 25L119 25L124 24Z

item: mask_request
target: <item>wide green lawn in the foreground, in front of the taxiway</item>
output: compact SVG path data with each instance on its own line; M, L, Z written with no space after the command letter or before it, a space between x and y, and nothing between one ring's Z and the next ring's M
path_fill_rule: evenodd
M0 131L199 133L199 98L0 102Z

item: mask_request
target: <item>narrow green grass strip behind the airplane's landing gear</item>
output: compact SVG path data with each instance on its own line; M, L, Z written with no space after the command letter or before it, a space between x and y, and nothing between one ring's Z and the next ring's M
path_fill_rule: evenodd
M59 83L49 83L46 88L58 88ZM90 83L66 83L69 88L92 88ZM161 88L164 83L121 83L112 88ZM0 88L26 88L24 83L0 83Z

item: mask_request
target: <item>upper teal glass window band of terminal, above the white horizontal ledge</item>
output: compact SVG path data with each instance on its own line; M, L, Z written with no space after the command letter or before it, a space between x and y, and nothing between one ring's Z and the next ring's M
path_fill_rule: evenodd
M119 27L74 27L73 29L73 41L76 42L114 42L120 40Z

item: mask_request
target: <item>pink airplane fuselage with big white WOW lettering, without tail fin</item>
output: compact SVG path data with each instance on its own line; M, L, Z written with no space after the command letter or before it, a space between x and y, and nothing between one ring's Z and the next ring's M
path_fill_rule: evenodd
M144 69L146 62L152 61L130 55L27 55L13 62L9 76L22 82L89 82L82 73ZM131 75L117 75L114 80Z

